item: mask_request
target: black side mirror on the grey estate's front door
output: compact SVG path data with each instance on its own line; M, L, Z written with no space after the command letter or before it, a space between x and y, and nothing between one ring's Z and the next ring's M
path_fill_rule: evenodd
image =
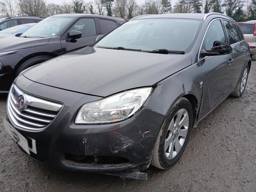
M210 50L201 50L201 56L216 56L216 55L225 55L230 54L233 51L232 47L229 44L226 44L221 41L214 41L213 47Z

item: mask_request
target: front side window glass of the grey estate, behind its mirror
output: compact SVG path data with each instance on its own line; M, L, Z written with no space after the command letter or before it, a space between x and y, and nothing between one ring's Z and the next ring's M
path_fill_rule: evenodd
M204 48L210 50L213 47L214 41L226 42L224 30L220 23L220 20L213 21L204 37Z

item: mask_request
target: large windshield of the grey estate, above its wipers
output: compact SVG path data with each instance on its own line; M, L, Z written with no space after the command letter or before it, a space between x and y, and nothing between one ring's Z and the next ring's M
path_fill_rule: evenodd
M131 20L104 36L94 47L185 51L192 43L199 24L198 20L191 19Z

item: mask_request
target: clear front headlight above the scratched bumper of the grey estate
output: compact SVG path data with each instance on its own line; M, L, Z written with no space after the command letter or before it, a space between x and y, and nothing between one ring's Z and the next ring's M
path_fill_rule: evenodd
M151 87L134 89L86 103L78 112L75 123L97 124L124 120L139 110L151 92Z

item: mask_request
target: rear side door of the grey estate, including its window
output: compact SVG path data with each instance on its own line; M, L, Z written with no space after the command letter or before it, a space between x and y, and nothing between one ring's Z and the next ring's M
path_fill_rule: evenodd
M230 94L235 90L236 86L240 82L240 75L244 70L247 47L246 44L244 44L244 40L241 39L240 35L238 34L235 25L226 20L222 20L222 22L226 28L229 44L233 49L234 56L233 62L230 63L230 65L233 66L230 86L228 88L228 94Z

